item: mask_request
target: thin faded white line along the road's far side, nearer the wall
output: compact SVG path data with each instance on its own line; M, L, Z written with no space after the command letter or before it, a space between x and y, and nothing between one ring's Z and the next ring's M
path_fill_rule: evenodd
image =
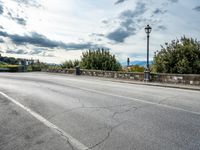
M67 86L69 86L69 85L67 85ZM74 86L71 86L71 85L69 87L77 88L77 87L74 87ZM169 105L160 104L160 103L156 103L156 102L150 102L150 101L142 100L142 99L138 99L138 98L122 96L122 95L117 95L117 94L112 94L112 93L106 93L106 92L87 89L87 88L77 88L77 89L88 91L88 92L93 92L93 93L97 93L97 94L103 94L103 95L108 95L108 96L113 96L113 97L129 99L129 100L132 100L132 101L137 101L137 102L146 103L146 104L150 104L150 105L161 106L161 107L168 108L168 109L184 111L184 112L192 113L192 114L195 114L195 115L200 115L200 112L190 111L190 110L186 110L186 109L183 109L183 108L179 108L179 107L175 107L175 106L169 106Z

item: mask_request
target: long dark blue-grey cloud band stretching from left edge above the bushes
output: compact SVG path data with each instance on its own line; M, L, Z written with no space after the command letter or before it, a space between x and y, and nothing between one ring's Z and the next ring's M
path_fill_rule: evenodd
M46 48L62 48L65 50L83 50L102 47L90 42L87 43L63 43L61 41L53 41L46 36L31 32L28 35L8 34L7 32L0 31L0 36L9 38L16 45L34 45L36 47Z

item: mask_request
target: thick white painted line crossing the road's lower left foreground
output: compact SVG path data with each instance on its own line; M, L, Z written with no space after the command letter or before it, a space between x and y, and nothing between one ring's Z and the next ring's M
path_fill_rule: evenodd
M0 94L2 96L4 96L6 99L8 99L11 102L15 103L17 106L21 107L23 110L25 110L29 114L31 114L34 118L36 118L37 120L39 120L45 126L49 127L50 129L54 130L55 132L57 132L63 139L65 139L73 147L77 148L78 150L89 150L89 148L87 146L85 146L84 144L82 144L81 142L79 142L77 139L75 139L74 137L72 137L70 134L66 133L65 131L63 131L62 129L60 129L55 124L51 123L50 121L48 121L47 119L45 119L44 117L42 117L41 115L39 115L38 113L32 111L30 108L22 105L17 100L13 99L12 97L8 96L7 94L5 94L5 93L3 93L1 91L0 91Z

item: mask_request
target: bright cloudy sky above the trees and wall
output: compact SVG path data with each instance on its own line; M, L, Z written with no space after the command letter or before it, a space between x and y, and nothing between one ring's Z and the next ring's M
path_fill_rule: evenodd
M200 0L0 0L0 53L62 63L105 48L120 62L150 59L185 35L200 40Z

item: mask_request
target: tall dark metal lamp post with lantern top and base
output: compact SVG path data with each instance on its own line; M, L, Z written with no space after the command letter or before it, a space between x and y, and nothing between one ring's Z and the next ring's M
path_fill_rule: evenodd
M145 27L145 32L147 34L147 68L144 72L144 80L145 81L149 81L150 80L150 68L149 68L149 37L150 37L150 33L151 33L152 28L147 25Z

